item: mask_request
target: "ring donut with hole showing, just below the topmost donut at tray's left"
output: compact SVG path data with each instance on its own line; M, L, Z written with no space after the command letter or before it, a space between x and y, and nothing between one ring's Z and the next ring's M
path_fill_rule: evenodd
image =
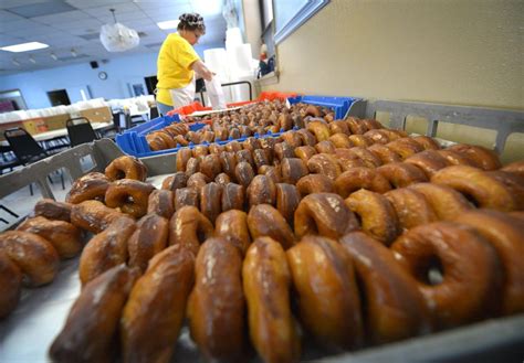
M151 184L138 180L120 179L107 188L105 204L139 218L147 213L147 201L154 189Z

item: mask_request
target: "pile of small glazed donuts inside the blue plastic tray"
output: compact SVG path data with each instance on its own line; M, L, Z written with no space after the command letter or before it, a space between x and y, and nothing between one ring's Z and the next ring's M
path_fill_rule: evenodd
M293 127L303 128L312 118L333 119L333 111L325 107L294 104L290 108L279 100L263 102L245 106L239 110L229 110L212 116L189 117L180 124L171 124L146 136L151 151L187 147L190 143L211 143L228 139L240 139L254 134L281 132ZM190 122L206 124L196 131Z

